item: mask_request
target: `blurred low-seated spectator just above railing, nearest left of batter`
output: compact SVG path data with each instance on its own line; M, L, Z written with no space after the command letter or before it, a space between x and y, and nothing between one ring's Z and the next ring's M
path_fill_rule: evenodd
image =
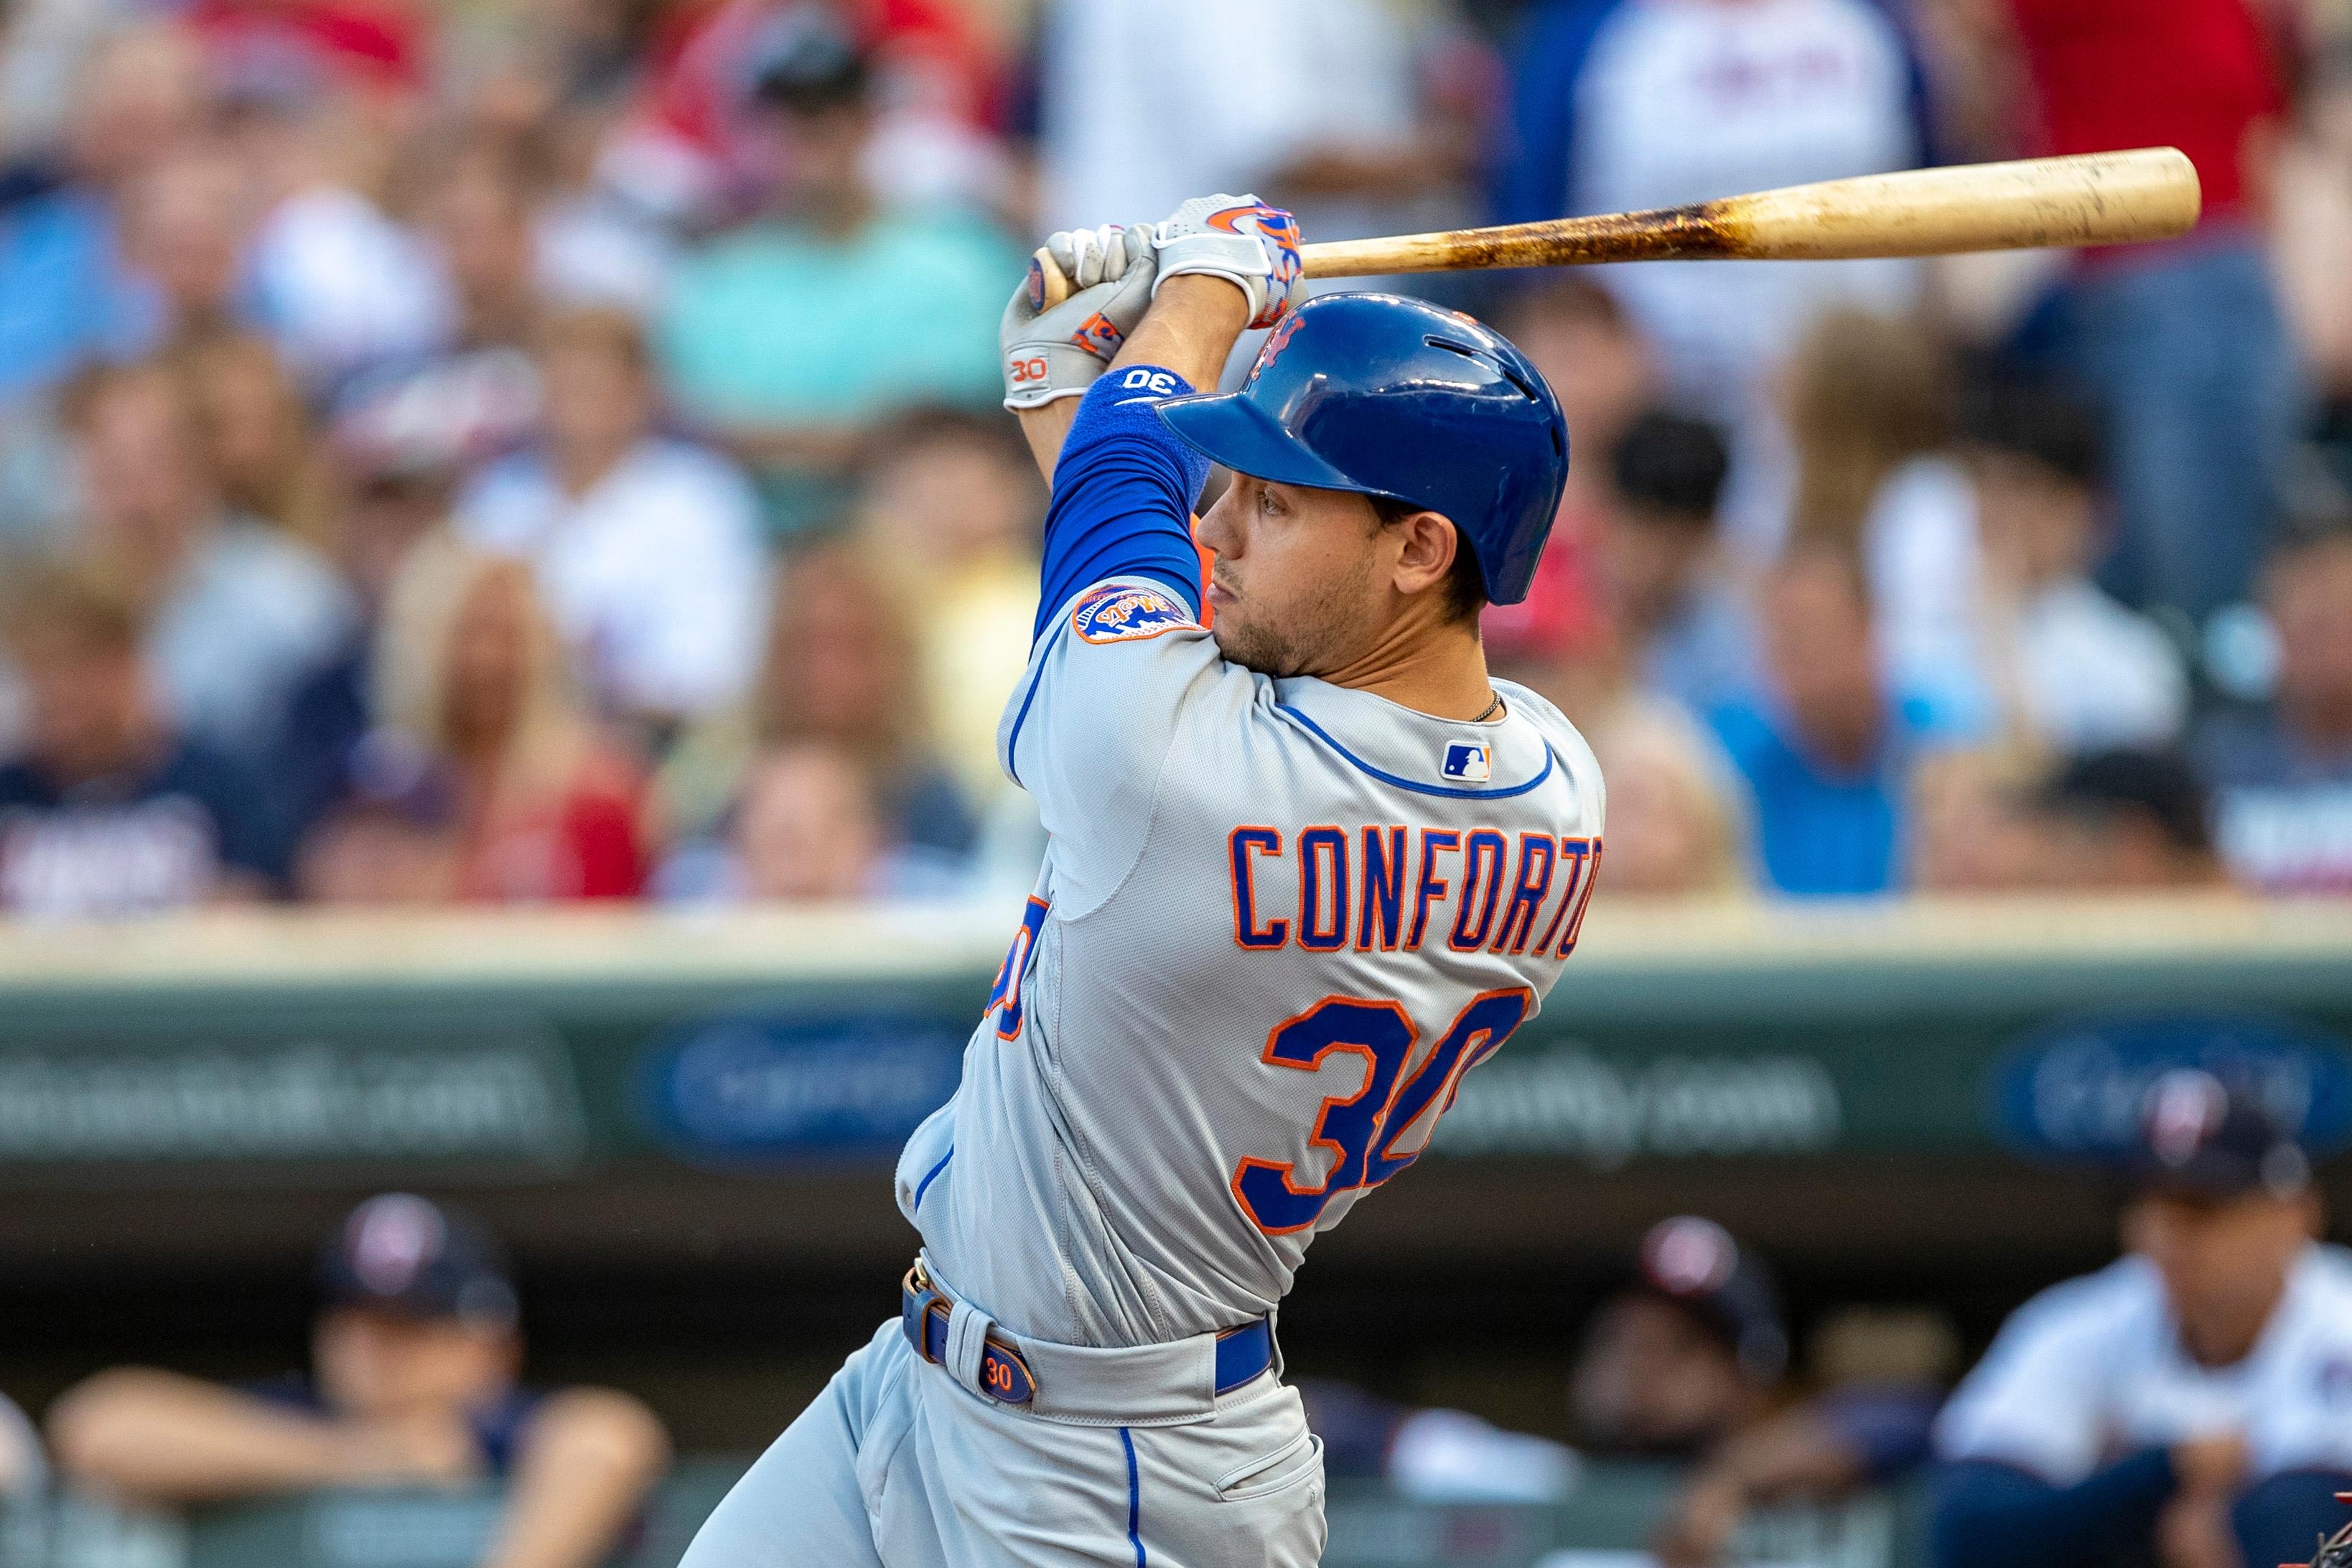
M786 741L750 759L724 839L673 853L656 893L736 903L964 891L962 860L903 842L884 811L882 780L856 752Z

